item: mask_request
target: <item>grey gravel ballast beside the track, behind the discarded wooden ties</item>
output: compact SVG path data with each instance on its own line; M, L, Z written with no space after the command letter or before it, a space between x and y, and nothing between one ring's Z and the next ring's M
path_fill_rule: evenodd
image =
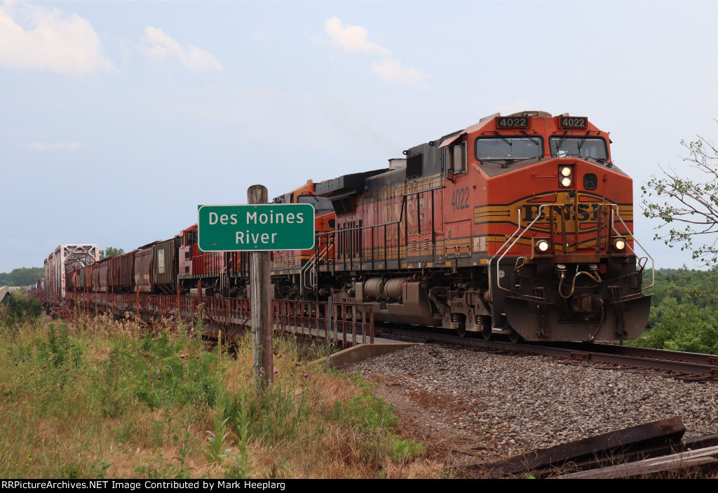
M417 344L344 371L398 388L423 408L429 430L483 443L485 456L545 449L674 415L686 438L718 433L718 382L565 362Z

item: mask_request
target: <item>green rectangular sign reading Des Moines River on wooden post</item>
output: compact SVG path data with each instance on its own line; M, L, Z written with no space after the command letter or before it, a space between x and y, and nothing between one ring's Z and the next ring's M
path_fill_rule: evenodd
M312 204L200 205L197 243L203 252L312 250Z

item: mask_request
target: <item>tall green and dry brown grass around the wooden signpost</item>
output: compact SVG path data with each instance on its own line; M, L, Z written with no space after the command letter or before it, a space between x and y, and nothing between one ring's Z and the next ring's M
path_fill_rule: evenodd
M0 477L439 476L360 375L309 365L275 337L258 393L251 339L232 355L198 329L103 316L75 324L0 308Z

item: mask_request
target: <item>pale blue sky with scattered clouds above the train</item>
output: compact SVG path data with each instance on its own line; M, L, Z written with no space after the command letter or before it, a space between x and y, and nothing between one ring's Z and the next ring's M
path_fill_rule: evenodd
M125 251L524 110L587 116L640 186L718 141L718 1L0 4L0 272Z

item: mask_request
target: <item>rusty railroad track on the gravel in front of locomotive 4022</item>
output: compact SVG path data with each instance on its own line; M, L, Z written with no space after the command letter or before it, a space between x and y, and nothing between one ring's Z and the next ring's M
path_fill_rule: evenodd
M616 368L648 369L667 373L681 380L718 382L718 356L666 351L600 343L520 343L486 341L479 337L458 337L435 329L411 330L376 326L376 336L407 342L439 342L493 349L505 352L544 355L586 364L600 363Z

